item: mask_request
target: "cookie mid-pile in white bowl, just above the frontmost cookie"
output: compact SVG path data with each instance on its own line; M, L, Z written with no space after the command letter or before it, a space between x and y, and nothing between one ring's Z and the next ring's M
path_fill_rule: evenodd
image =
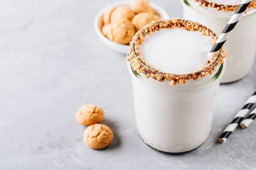
M134 16L135 13L130 8L126 6L119 6L111 13L110 20L111 23L119 22L124 19L131 21Z

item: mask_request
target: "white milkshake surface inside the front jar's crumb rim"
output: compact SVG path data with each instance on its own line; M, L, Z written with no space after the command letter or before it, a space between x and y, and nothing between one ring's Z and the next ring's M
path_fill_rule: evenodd
M180 45L184 41L188 43L184 44L185 46ZM212 44L212 38L201 35L200 31L163 28L145 37L143 44L140 45L140 53L154 68L164 72L183 74L200 70L205 66L210 59L207 54Z

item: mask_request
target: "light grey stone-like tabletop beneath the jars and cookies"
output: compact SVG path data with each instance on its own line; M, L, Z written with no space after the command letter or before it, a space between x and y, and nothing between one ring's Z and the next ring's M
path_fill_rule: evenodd
M219 134L256 88L256 66L221 85L207 141L192 152L157 152L137 134L125 55L97 37L96 13L113 0L0 0L0 170L253 170L256 123L225 144ZM178 0L152 0L182 17ZM114 67L113 67L114 66ZM105 150L82 141L84 104L101 106L115 134Z

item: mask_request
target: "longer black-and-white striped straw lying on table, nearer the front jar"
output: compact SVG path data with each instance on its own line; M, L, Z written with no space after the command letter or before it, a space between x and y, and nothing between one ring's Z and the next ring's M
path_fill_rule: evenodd
M247 99L247 101L244 104L244 107L236 114L233 121L222 132L221 136L218 139L219 142L221 142L221 143L226 142L226 140L230 136L230 134L236 129L236 127L240 124L240 122L242 121L244 116L246 116L247 113L250 112L250 110L253 108L253 105L255 105L255 104L256 104L256 89L255 89L255 92L253 93L253 95L250 96L249 99Z

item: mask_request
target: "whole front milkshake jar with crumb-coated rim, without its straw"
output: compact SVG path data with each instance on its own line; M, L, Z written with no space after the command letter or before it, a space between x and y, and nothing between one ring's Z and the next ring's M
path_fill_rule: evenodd
M224 73L223 49L208 28L187 20L156 21L138 31L127 57L137 129L156 150L180 153L205 142Z

